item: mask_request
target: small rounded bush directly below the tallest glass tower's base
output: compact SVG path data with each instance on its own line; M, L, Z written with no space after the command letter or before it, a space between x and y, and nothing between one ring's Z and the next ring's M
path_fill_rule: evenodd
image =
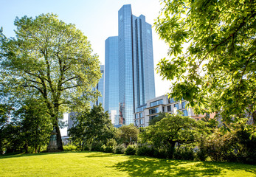
M115 133L115 139L120 144L124 143L125 145L131 145L137 142L139 135L139 129L136 128L133 124L122 125L122 127L117 129Z

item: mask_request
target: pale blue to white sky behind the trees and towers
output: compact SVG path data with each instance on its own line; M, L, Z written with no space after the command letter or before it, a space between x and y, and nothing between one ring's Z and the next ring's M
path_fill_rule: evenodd
M0 0L0 27L4 35L14 37L13 21L27 15L35 18L41 13L54 13L65 23L75 24L91 41L94 53L105 63L105 39L118 35L118 10L124 4L131 4L132 13L145 15L146 21L153 26L154 19L161 9L159 0ZM154 66L161 58L167 57L167 46L159 40L153 28ZM170 82L162 80L155 71L156 97L166 94ZM62 131L62 135L66 130Z

